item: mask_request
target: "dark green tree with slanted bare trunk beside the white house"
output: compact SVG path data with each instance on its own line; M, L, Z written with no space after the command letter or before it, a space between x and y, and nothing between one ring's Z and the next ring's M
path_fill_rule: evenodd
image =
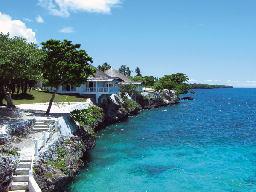
M63 42L50 39L41 44L46 54L42 69L43 77L49 80L47 83L49 87L55 88L46 111L46 114L49 114L54 97L62 84L80 87L87 82L89 75L94 76L96 69L89 66L88 62L93 61L87 52L77 50L81 47L80 44L73 45L67 39Z

